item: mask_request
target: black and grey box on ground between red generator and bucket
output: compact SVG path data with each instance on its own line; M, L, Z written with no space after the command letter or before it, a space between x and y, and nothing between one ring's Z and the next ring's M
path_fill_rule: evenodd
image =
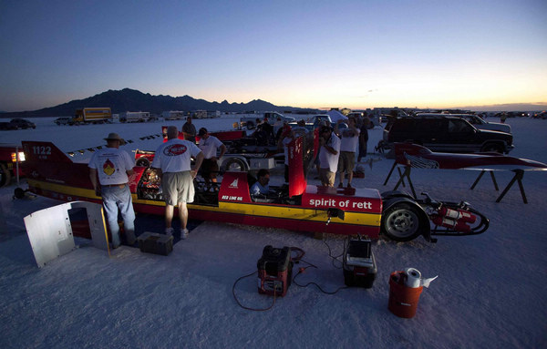
M371 288L377 275L377 264L368 238L348 238L342 263L346 286Z

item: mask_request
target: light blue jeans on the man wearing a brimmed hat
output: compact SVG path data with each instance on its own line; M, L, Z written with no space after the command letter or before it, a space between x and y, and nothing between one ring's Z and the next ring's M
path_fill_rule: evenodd
M133 210L133 199L129 186L123 188L102 187L101 195L103 198L103 207L107 213L108 228L112 235L112 246L119 246L119 225L118 210L123 218L123 227L128 240L128 244L135 243L135 211Z

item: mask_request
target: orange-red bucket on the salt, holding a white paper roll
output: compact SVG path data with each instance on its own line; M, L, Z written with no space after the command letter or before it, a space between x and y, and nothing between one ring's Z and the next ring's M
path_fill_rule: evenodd
M389 277L389 301L387 309L398 317L410 319L416 315L419 295L423 286L416 288L407 287L405 272L392 272Z

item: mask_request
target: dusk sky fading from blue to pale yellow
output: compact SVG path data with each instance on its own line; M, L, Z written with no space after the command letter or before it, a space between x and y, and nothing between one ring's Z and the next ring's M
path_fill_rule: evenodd
M125 87L302 108L545 103L546 18L545 0L0 0L0 110Z

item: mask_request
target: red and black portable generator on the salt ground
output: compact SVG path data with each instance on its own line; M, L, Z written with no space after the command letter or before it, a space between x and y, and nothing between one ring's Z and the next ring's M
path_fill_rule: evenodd
M258 268L258 293L284 296L293 279L291 248L283 249L267 245L256 263Z

